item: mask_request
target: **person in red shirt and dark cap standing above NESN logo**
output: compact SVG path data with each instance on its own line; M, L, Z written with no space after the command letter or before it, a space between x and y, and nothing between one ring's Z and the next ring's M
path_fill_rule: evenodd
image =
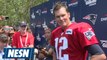
M32 33L27 31L27 23L25 21L20 22L19 31L15 32L12 37L12 47L14 48L33 48L34 37Z

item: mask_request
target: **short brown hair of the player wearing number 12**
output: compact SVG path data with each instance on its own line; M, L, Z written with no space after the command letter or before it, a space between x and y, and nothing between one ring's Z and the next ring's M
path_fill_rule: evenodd
M65 2L56 2L55 5L53 6L53 14L55 15L55 11L59 10L61 7L64 7L67 12L69 12L68 6Z

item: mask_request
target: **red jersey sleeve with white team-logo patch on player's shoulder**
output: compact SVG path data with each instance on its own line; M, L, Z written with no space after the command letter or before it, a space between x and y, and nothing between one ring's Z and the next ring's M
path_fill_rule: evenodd
M94 30L89 24L81 23L79 26L79 42L83 48L98 43Z

